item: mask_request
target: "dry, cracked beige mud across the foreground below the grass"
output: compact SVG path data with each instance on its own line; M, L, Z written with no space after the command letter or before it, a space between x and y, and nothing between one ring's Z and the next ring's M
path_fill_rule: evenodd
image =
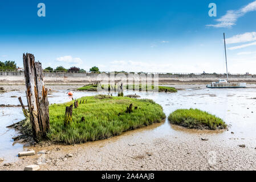
M175 85L178 89L202 85ZM252 85L255 86L255 85ZM4 86L6 90L24 86ZM50 89L74 89L75 86L47 86ZM175 133L153 135L161 125L172 127ZM226 132L221 139L216 133ZM40 170L256 170L255 139L243 139L230 131L197 131L165 123L128 131L120 136L96 142L64 146L47 143L33 149L34 156L19 158L14 163L0 162L0 170L23 170L39 164ZM202 140L207 138L209 140ZM238 145L246 144L246 147ZM37 154L45 150L47 154ZM71 157L66 156L72 155Z

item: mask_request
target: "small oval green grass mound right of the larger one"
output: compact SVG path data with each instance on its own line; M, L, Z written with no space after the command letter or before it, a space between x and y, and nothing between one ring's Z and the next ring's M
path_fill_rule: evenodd
M226 124L215 115L199 109L178 109L168 117L170 123L188 127L190 129L225 129Z

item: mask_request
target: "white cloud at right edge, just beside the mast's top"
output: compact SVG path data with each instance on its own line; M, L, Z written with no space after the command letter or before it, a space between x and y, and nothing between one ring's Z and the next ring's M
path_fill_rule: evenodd
M251 42L256 40L256 32L246 32L245 34L235 35L231 38L226 39L227 44Z

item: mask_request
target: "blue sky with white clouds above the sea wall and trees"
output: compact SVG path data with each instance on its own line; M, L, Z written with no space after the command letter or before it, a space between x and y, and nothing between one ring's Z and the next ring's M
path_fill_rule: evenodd
M1 1L0 60L23 67L30 52L44 68L223 73L225 32L229 72L256 73L255 17L254 0Z

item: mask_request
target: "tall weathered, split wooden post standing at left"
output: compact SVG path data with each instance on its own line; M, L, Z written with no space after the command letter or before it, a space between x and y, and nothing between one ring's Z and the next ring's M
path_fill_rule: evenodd
M47 89L43 84L42 65L35 62L34 55L24 53L23 65L32 133L35 141L39 142L50 130Z

